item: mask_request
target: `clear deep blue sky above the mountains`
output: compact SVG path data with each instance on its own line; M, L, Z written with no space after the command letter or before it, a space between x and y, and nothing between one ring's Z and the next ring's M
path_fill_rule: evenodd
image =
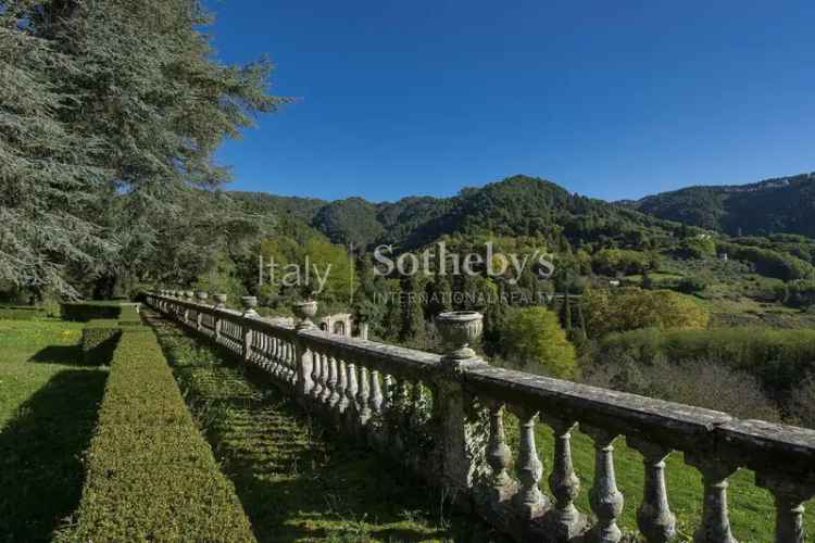
M815 171L815 2L208 0L217 56L299 101L235 189L450 195L513 174L610 200Z

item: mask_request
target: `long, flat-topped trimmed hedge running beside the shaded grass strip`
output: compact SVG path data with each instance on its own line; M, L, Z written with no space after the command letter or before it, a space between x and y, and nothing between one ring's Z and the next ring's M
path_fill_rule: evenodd
M77 520L58 541L255 541L155 334L146 330L122 332Z

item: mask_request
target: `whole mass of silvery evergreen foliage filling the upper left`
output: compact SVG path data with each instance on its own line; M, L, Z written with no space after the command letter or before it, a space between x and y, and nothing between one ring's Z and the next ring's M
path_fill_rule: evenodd
M191 205L190 199L206 198L189 188L209 189L228 179L228 171L213 161L216 147L226 137L239 136L254 114L274 111L285 101L267 92L271 64L217 63L201 30L210 16L197 0L0 1L0 9L4 21L0 85L12 87L3 90L38 97L30 104L17 104L12 92L0 98L3 113L17 116L15 121L4 115L3 122L20 126L16 135L4 130L10 136L0 140L0 153L28 161L3 173L3 190L9 194L3 213L14 210L12 204L20 205L11 201L13 190L5 186L26 187L21 194L39 190L51 199L26 204L34 210L29 215L61 220L46 230L52 236L41 240L39 245L45 248L39 251L37 243L25 238L26 223L5 222L10 226L3 233L3 253L21 252L20 248L7 249L5 238L17 240L15 247L33 248L28 260L39 260L45 263L41 267L52 269L37 281L70 291L55 267L61 255L50 248L66 245L63 252L67 252L67 248L83 247L66 241L75 237L68 237L68 230L90 241L92 225L72 227L71 220L92 217L104 228L106 239L117 242L117 254L98 258L83 252L61 258L83 260L79 269L86 277L89 270L98 273L99 265L104 267L98 274L102 277L118 276L124 269L143 275L166 256L161 251L167 241L178 239L177 229L166 228L167 223L175 223L174 217L184 216L185 210L200 207ZM17 43L22 40L36 47ZM36 87L36 92L13 88L21 85ZM48 132L42 137L46 147L36 144L34 132ZM85 156L68 150L80 150ZM71 182L71 195L79 198L82 206L75 202L55 205L53 189L42 181L54 177L40 164L43 160L51 161L52 169L60 165L60 178L49 182L61 187ZM72 167L62 167L65 162ZM4 277L34 283L26 280L24 265L13 268L10 262L11 257L3 257Z

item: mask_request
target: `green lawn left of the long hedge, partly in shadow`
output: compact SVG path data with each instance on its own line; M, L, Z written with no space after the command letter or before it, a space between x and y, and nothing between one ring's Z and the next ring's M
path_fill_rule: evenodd
M106 377L80 365L80 330L0 320L0 541L49 541L79 503Z

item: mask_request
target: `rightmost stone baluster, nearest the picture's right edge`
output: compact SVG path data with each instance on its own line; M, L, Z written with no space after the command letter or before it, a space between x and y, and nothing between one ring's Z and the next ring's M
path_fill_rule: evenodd
M776 502L776 543L804 543L804 502L815 496L815 480L760 472L758 487L769 490Z

